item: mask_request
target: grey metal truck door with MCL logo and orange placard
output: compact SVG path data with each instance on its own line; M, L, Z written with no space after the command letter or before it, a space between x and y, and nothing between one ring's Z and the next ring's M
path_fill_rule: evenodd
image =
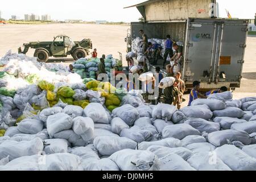
M246 30L245 20L188 19L184 80L201 81L204 89L239 87Z

